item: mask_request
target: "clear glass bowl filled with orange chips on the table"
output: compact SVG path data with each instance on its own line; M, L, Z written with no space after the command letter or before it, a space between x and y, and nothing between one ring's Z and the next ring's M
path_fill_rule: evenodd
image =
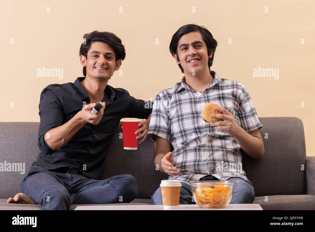
M194 201L202 208L224 208L232 199L235 184L220 180L189 183Z

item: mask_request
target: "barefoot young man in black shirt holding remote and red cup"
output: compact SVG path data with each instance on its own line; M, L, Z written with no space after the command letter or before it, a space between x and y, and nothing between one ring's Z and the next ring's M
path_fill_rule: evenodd
M135 199L135 177L117 175L101 180L109 142L122 118L140 118L135 131L146 139L152 108L108 80L125 58L125 48L113 33L85 34L80 47L84 77L74 83L50 84L41 93L38 146L41 153L19 192L8 203L39 204L42 210L68 210L71 204L111 204ZM90 110L98 102L97 114ZM152 102L151 102L152 106Z

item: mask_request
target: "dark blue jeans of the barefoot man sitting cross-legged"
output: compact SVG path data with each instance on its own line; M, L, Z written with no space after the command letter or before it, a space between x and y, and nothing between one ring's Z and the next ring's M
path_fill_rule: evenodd
M19 192L41 205L42 210L69 210L72 204L129 203L138 194L137 181L129 174L95 180L75 173L69 167L49 171L32 166Z

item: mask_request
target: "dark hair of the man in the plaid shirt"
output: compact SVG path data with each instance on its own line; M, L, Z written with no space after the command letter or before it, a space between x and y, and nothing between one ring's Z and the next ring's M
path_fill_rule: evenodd
M211 54L211 51L213 51L212 58L210 58L208 61L208 66L210 70L210 67L212 66L213 58L215 55L215 49L218 46L218 42L213 38L212 34L204 26L198 26L197 24L186 24L180 27L180 29L178 29L177 32L175 32L175 34L172 37L171 43L169 44L169 51L171 52L172 56L175 53L176 58L178 58L178 53L177 53L178 41L180 40L180 37L182 37L183 35L189 32L200 32L203 40L205 41L207 45L208 56ZM183 67L181 67L180 64L178 66L180 67L181 72L184 73Z

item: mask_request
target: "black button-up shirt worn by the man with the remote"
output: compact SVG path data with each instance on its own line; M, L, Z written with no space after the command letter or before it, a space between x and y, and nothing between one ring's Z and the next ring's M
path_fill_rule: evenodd
M146 119L152 112L153 102L135 99L127 90L106 85L106 107L97 125L86 123L63 147L54 151L45 141L46 133L65 124L82 110L90 99L81 85L85 77L74 83L50 84L41 93L39 102L40 125L38 146L41 153L32 166L46 170L72 167L87 178L100 180L104 171L109 142L122 118ZM94 102L92 102L94 103Z

